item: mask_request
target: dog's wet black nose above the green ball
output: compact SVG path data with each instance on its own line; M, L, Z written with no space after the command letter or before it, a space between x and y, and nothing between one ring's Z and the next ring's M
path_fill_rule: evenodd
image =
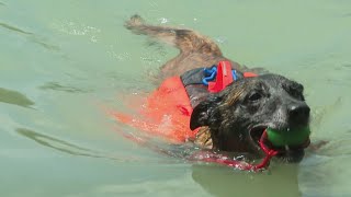
M290 119L293 123L306 124L309 118L310 108L306 104L296 104L288 107Z

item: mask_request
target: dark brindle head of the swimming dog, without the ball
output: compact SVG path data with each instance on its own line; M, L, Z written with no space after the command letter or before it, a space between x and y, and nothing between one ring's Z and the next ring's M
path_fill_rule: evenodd
M191 115L191 129L207 126L213 147L222 151L262 153L258 143L263 131L306 128L309 107L303 85L278 74L245 78L201 102ZM309 139L301 146L274 147L279 158L299 162Z

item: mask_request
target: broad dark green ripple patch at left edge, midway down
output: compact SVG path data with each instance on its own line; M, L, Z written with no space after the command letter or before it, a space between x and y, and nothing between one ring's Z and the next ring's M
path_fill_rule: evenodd
M34 105L34 102L20 92L0 88L0 102L23 107Z

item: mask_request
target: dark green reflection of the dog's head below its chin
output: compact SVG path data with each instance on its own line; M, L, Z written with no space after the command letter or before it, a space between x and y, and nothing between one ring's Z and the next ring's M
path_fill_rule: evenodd
M192 177L210 194L227 196L301 196L297 166L274 167L274 173L234 172L227 167L193 165ZM238 195L240 194L240 195Z

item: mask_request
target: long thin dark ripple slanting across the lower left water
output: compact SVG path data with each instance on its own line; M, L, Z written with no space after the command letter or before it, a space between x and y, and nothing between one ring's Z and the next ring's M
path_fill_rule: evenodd
M47 135L43 135L26 128L18 128L15 131L29 139L34 140L35 142L55 149L57 151L72 154L72 155L80 155L80 157L89 157L89 158L102 158L102 159L110 159L110 160L117 160L123 162L134 162L136 159L134 158L122 158L121 157L112 157L103 154L102 152L82 148L80 146L69 143L67 141L64 141L61 139L57 139Z

